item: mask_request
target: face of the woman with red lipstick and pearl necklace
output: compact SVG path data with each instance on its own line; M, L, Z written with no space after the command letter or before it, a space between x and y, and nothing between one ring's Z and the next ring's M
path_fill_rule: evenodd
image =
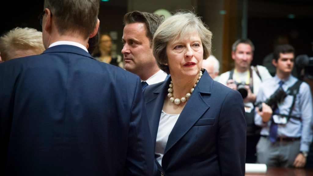
M172 76L195 76L201 70L203 46L197 33L168 42L166 54Z

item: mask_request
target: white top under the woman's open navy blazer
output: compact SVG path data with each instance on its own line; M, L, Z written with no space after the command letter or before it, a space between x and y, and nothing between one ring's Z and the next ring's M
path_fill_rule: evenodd
M177 122L179 115L180 114L167 114L162 110L159 128L157 130L156 135L156 150L155 150L156 160L159 162L161 166L168 136L172 132L172 129L175 123Z

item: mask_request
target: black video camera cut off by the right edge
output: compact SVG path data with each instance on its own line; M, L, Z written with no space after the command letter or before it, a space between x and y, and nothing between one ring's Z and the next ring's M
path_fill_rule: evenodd
M313 57L300 54L295 58L295 64L300 68L304 68L305 77L313 79Z

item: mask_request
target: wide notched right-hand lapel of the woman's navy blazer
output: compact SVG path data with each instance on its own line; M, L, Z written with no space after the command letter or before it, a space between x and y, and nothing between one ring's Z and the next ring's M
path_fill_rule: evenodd
M203 76L201 77L197 86L192 92L192 96L187 101L186 106L182 110L175 126L172 129L172 132L168 137L164 155L170 148L175 145L175 143L179 139L181 139L188 132L188 130L209 109L210 106L206 103L206 101L204 101L201 93L211 94L212 85L213 79L208 75L208 72L205 70Z

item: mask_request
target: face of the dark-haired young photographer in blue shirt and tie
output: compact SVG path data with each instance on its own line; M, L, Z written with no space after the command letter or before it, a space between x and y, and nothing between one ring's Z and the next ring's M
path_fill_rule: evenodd
M290 74L292 72L295 58L293 53L280 53L277 62L273 60L273 65L276 67L277 72L283 74Z

